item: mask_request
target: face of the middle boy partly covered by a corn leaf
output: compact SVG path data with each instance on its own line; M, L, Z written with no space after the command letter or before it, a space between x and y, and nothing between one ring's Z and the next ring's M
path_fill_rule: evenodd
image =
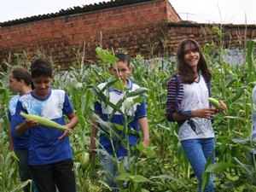
M126 79L128 79L128 76L132 71L132 67L128 67L126 62L118 61L116 62L116 66L109 67L109 70L116 79L121 79L124 83L126 83Z

